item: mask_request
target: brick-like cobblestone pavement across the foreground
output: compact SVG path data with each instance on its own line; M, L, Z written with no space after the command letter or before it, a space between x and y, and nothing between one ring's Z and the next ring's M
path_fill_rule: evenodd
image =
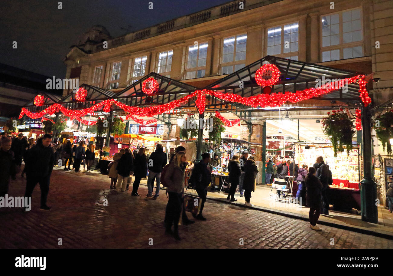
M23 196L25 183L19 175L9 196ZM392 240L323 225L316 232L307 221L209 200L208 220L179 226L182 241L175 241L163 234L165 191L157 201L145 200L143 183L141 196L131 197L130 191L110 190L105 175L55 168L48 196L52 210L39 209L39 185L30 212L0 209L0 248L393 248Z

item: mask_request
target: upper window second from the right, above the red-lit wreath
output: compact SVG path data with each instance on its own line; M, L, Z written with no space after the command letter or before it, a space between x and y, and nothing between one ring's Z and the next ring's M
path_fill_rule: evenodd
M268 55L296 57L299 53L299 23L268 28L267 39Z

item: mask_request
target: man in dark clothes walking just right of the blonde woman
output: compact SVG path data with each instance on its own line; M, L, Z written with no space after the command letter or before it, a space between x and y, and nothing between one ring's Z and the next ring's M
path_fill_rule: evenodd
M209 153L202 153L202 160L197 163L193 169L191 177L193 179L193 184L195 187L196 193L200 199L202 199L199 209L199 214L193 216L196 219L200 219L202 221L206 221L206 218L202 216L203 207L206 202L206 195L208 194L208 186L211 181L210 171L208 169L208 164L210 162L210 154Z

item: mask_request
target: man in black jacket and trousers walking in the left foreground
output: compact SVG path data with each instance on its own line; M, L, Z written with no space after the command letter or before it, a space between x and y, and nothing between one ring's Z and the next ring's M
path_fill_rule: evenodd
M46 205L46 198L49 193L50 175L53 169L54 154L50 147L52 136L45 134L40 138L37 145L29 149L26 154L26 192L25 197L31 197L37 183L41 189L41 207L42 210L50 210Z

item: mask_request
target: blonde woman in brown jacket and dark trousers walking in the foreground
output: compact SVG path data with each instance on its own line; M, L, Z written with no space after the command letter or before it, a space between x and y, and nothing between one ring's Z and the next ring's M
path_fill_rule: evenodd
M184 170L187 165L184 151L178 152L165 173L168 185L168 204L165 210L165 234L172 235L180 241L178 224L182 212L184 196ZM173 224L173 232L171 230Z

